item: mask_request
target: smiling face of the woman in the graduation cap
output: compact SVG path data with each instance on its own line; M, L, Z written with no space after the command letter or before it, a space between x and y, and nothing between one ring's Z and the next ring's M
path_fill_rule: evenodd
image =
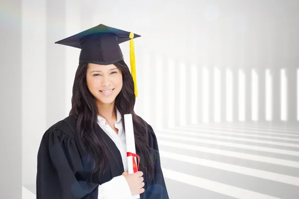
M123 87L122 72L113 64L88 64L86 84L98 104L114 102Z

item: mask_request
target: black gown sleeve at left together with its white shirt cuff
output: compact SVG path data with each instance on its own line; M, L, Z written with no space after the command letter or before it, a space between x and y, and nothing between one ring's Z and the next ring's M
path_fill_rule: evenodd
M50 127L42 137L37 155L36 199L132 198L124 176L100 185L79 180L76 174L82 171L82 159L72 132L63 124Z

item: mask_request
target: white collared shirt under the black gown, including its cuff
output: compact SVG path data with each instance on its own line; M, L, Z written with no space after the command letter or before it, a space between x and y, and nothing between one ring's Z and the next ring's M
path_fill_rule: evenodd
M104 130L104 132L113 140L117 148L119 149L124 171L128 171L127 164L127 145L126 134L123 129L122 114L116 108L117 121L114 123L118 129L118 134L111 128L109 124L106 124L106 119L98 115L98 124ZM113 124L111 124L113 125ZM117 189L117 191L116 191ZM103 183L99 186L98 199L133 199L130 187L124 176L114 177L111 181Z

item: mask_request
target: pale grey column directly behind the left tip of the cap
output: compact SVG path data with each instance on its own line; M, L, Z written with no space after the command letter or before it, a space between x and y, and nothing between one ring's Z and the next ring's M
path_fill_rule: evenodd
M46 8L46 126L51 126L67 116L65 114L67 47L55 42L69 35L65 34L65 1L47 0Z

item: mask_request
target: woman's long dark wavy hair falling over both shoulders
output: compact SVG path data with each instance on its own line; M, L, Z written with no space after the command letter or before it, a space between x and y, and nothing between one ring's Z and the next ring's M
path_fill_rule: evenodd
M145 162L140 162L140 167L145 168L147 182L150 182L151 175L154 172L154 163L152 152L149 148L147 131L148 123L138 116L134 111L135 94L134 82L127 64L122 60L114 64L123 76L123 88L115 99L115 106L122 114L122 120L125 114L132 114L134 125L134 136L136 144L136 153L142 154ZM92 153L94 158L92 164L91 176L99 173L104 174L105 168L108 166L109 146L97 133L95 133L96 125L98 125L98 107L94 96L89 92L86 85L86 71L88 63L81 63L75 74L72 96L72 108L69 115L74 115L77 119L77 132L80 144L83 148ZM123 120L123 128L125 123ZM149 186L149 185L148 185Z

